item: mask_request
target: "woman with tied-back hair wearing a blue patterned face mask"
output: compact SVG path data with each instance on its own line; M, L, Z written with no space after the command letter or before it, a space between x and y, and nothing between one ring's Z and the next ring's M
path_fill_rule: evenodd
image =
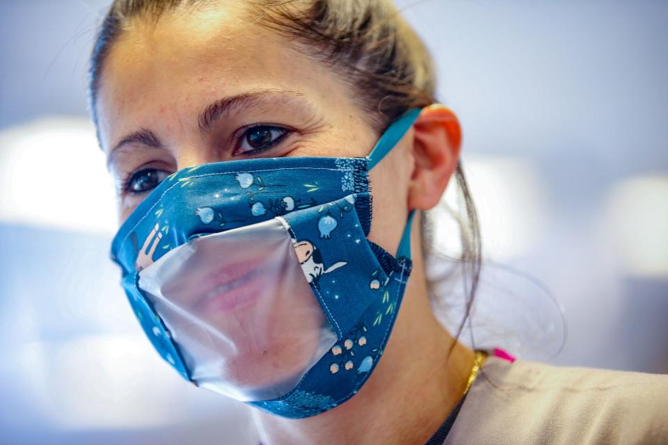
M263 443L668 442L665 376L514 362L434 317L422 211L453 175L474 265L478 230L459 124L390 1L117 0L90 99L143 329L259 408Z

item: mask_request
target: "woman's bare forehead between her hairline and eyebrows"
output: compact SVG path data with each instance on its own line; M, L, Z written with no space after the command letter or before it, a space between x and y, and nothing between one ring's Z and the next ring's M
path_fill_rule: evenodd
M347 112L340 79L277 33L223 4L136 19L113 43L98 92L106 150L140 127L196 125L201 107L249 90L303 92L310 102ZM345 103L344 103L345 102Z

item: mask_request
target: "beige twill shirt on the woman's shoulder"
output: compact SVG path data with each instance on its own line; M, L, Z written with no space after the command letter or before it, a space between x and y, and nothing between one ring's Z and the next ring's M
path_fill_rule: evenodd
M451 444L668 444L668 375L488 357Z

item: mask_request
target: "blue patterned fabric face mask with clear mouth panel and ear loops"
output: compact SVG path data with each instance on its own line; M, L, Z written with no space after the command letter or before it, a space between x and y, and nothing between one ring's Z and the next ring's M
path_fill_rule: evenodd
M184 378L290 418L357 393L383 355L411 272L411 212L395 256L367 240L365 158L225 161L176 172L134 210L111 257L153 346Z

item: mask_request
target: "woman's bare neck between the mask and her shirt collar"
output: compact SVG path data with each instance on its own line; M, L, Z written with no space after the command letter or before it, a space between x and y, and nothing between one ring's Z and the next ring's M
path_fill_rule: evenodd
M358 394L306 419L252 410L263 444L424 444L438 429L463 395L474 354L434 317L416 263L383 358Z

